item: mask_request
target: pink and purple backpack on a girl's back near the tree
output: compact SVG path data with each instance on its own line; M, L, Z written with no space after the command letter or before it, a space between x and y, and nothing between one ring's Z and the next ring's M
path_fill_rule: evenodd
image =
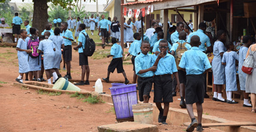
M29 39L29 43L27 44L27 50L32 50L32 53L29 53L29 56L32 58L38 57L38 65L39 65L39 53L38 53L39 40L38 37L31 36ZM28 57L29 61L29 57Z

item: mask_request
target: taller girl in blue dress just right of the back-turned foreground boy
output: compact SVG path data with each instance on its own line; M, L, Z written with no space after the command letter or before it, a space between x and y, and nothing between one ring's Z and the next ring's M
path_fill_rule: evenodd
M222 56L225 51L227 51L226 47L223 43L226 41L226 33L223 30L219 30L217 32L218 40L215 41L213 46L213 62L211 62L213 66L213 79L214 79L214 101L226 102L224 98L222 98L221 88L225 84L225 66L221 65Z

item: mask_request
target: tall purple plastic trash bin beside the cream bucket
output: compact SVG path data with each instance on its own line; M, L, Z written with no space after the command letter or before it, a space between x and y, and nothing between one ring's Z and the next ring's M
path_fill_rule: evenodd
M110 88L117 120L133 117L132 105L138 104L136 85L120 85Z

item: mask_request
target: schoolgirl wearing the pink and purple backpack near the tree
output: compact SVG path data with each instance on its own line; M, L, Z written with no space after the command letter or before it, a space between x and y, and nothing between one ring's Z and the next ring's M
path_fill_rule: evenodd
M30 28L30 37L26 38L26 43L29 49L33 47L29 47L30 44L35 45L33 48L32 54L29 54L29 79L32 81L33 75L35 76L35 80L40 82L40 70L41 70L41 56L38 52L39 40L36 32L36 28ZM35 54L33 56L33 54ZM32 57L33 56L33 57Z

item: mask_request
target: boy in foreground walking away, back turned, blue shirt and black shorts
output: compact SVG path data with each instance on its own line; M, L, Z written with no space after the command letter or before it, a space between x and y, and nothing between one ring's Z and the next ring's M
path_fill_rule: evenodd
M204 73L211 69L210 62L205 53L199 50L201 44L198 36L191 37L191 50L185 51L180 60L179 67L186 70L186 108L191 117L191 124L186 131L202 131L202 103L204 102ZM193 114L193 104L196 103L198 121Z

